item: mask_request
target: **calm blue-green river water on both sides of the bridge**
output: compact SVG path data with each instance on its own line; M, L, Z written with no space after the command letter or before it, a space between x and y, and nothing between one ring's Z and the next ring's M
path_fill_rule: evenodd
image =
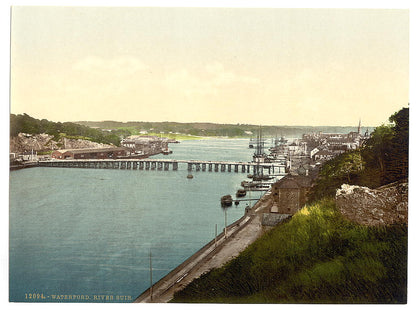
M157 157L250 161L253 153L248 140L170 147L173 154ZM38 301L108 295L130 302L149 287L150 249L156 282L212 240L215 225L218 233L224 228L220 197L234 196L246 174L194 171L189 180L186 165L179 168L11 172L10 300L34 301L29 294L36 293L43 294ZM228 224L245 205L227 209Z

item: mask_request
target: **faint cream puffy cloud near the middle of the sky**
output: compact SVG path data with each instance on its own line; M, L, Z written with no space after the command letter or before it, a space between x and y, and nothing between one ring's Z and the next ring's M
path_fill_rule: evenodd
M206 65L202 72L194 74L186 69L168 73L165 78L166 86L187 96L191 95L218 95L222 88L231 85L259 85L260 80L250 76L241 76L219 63Z

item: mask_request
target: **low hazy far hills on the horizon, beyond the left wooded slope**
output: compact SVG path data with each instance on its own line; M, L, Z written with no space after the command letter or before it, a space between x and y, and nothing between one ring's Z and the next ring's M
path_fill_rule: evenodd
M228 136L228 137L251 137L255 136L259 126L250 124L214 124L214 123L177 123L177 122L116 122L102 121L89 122L79 121L77 124L89 126L92 128L108 130L126 130L131 134L141 132L149 133L181 133L195 136ZM285 136L299 138L307 132L331 132L331 133L349 133L357 131L353 126L262 126L263 136L275 137ZM367 129L364 128L365 131ZM368 127L369 131L373 127Z

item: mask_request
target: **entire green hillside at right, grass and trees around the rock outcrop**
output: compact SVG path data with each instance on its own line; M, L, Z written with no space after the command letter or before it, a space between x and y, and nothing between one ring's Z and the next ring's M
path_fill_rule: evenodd
M407 225L367 227L334 202L343 183L378 187L408 177L409 109L377 127L359 150L326 162L293 218L173 302L406 303Z

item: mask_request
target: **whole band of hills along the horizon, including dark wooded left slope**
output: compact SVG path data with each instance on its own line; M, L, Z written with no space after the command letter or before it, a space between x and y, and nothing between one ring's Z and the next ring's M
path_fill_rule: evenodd
M85 139L97 143L120 145L120 140L129 135L142 133L180 133L201 137L255 137L259 126L250 124L215 124L215 123L178 123L178 122L117 122L117 121L78 121L52 122L46 119L35 119L27 114L10 115L10 135L19 133L46 133L59 140L66 138ZM373 127L363 128L362 131ZM308 132L348 133L357 131L353 126L261 126L264 137L285 136L300 138Z

